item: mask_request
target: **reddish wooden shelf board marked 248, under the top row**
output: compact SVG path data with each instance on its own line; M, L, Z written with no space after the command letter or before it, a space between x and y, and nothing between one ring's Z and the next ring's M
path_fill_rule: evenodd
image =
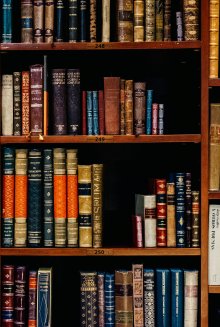
M0 43L1 51L200 49L201 41Z

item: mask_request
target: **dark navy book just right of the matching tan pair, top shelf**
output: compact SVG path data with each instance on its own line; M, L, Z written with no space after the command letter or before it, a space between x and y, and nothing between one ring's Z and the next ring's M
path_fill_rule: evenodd
M55 4L56 19L55 23L55 41L64 41L64 11L65 11L64 0L57 0Z

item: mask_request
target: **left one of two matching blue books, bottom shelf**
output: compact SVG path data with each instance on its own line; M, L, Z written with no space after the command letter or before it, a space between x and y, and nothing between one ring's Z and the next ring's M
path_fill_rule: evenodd
M170 327L170 270L156 269L156 326Z

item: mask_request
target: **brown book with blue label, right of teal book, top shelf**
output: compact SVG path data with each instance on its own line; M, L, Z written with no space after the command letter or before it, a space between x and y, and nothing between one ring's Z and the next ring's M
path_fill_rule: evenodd
M33 4L32 0L21 0L21 42L33 42Z

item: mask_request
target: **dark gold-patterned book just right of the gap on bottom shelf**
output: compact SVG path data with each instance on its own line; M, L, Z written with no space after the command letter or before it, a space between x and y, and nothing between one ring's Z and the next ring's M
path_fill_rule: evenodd
M97 272L80 271L80 325L98 326Z

